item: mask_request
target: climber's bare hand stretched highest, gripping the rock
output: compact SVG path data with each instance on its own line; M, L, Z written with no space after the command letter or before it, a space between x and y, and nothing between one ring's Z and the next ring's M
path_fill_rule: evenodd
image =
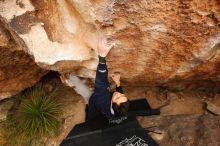
M98 40L98 53L101 57L106 57L110 49L114 46L114 43L105 38L104 36L99 37Z

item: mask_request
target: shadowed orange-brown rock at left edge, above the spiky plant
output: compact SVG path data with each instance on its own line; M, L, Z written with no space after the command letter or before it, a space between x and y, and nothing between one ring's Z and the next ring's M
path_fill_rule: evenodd
M47 72L35 64L16 42L16 34L8 30L0 19L0 100L33 86Z

